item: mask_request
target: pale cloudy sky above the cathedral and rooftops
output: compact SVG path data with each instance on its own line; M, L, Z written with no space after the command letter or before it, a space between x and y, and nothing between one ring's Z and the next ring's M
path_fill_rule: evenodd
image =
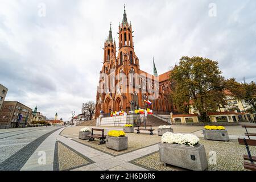
M6 100L64 120L96 99L104 39L117 39L123 4L141 69L158 73L181 56L217 60L226 78L256 81L256 2L0 0L0 83ZM212 4L213 3L213 4ZM46 11L43 7L46 6ZM46 14L44 14L44 12Z

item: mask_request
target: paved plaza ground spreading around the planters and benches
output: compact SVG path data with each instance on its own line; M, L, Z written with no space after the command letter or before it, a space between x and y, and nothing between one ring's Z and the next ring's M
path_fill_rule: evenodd
M0 170L185 170L169 165L164 167L159 162L158 143L161 137L158 137L157 127L154 127L154 135L148 131L126 134L128 149L119 152L106 148L106 144L99 145L98 140L89 142L79 139L81 128L51 126L0 130ZM208 159L210 151L216 152L217 163L210 164L208 170L244 170L242 155L246 154L246 148L237 142L237 138L244 137L245 133L241 125L226 126L229 142L204 140L203 126L174 125L172 128L174 133L189 133L199 137ZM122 127L104 129L108 133L113 129L122 130ZM256 155L255 147L250 147L250 151Z

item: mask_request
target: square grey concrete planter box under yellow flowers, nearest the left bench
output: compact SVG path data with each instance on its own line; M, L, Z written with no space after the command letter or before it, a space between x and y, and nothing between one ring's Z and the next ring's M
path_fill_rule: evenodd
M106 137L106 147L116 151L128 148L128 137Z

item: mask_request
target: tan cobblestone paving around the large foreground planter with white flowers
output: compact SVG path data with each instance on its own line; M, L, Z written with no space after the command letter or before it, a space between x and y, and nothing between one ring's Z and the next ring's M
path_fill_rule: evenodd
M209 159L209 151L216 151L217 154L217 164L209 165L209 171L243 171L243 154L246 154L245 146L238 144L238 142L217 142L201 139L200 141L204 144L205 151L207 153L207 158ZM250 147L252 155L256 154L256 148ZM142 158L133 160L133 164L158 171L177 171L185 170L183 168L178 168L174 166L167 165L163 166L159 161L159 152L154 152Z

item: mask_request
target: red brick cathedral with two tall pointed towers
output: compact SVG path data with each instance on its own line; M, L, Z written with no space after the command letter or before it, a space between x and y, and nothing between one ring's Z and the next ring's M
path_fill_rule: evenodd
M96 118L100 113L105 116L110 115L111 111L123 110L129 113L130 110L145 107L149 107L156 114L170 114L174 111L168 100L170 71L158 76L154 58L154 76L141 70L139 58L134 52L133 27L127 21L126 10L118 27L118 35L117 48L110 24L109 36L104 43L104 61L97 88ZM152 78L152 81L148 81L146 77ZM152 93L146 88L158 92L156 97L150 97ZM150 100L152 104L146 106L144 100Z

